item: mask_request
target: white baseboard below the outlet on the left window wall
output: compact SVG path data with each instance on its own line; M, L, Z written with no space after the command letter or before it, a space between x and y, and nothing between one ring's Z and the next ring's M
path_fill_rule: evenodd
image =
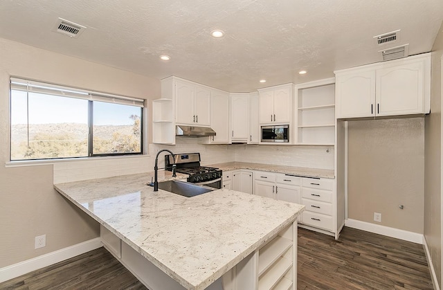
M100 237L0 269L0 283L103 246Z

